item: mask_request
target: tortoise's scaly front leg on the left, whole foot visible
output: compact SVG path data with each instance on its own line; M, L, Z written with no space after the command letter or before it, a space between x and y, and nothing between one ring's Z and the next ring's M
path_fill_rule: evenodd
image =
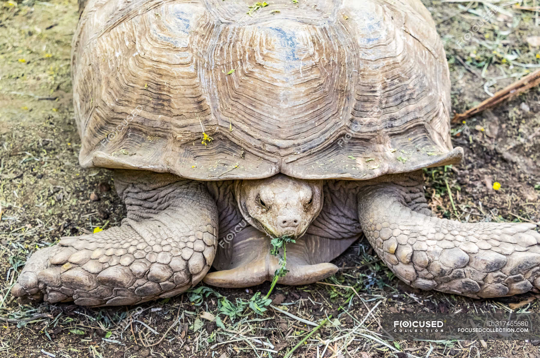
M218 216L201 182L115 171L127 207L119 227L66 237L32 254L12 294L19 301L131 305L197 284L214 259Z

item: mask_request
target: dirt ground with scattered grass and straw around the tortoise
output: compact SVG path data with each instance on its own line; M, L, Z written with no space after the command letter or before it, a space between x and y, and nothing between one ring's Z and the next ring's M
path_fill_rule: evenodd
M454 111L473 107L540 67L536 0L424 4L446 47ZM491 4L499 11L474 26ZM271 298L286 313L241 309L240 299L266 293L269 284L219 288L205 291L207 297L185 293L136 307L19 305L9 290L32 252L62 236L118 225L125 216L111 172L78 165L70 77L76 22L74 0L0 3L0 357L281 357L314 328L291 315L319 323L329 314L330 323L293 356L540 357L539 341L379 338L384 313L540 313L540 295L474 300L415 290L396 279L365 240L334 261L341 269L325 284L278 285ZM454 146L465 150L463 163L425 171L426 195L438 216L540 221L538 112L537 87L453 126ZM495 182L501 189L493 189ZM92 192L99 201L90 200ZM240 316L233 321L221 314L224 327L217 327L205 317L219 313L221 296ZM518 302L521 307L512 310Z

